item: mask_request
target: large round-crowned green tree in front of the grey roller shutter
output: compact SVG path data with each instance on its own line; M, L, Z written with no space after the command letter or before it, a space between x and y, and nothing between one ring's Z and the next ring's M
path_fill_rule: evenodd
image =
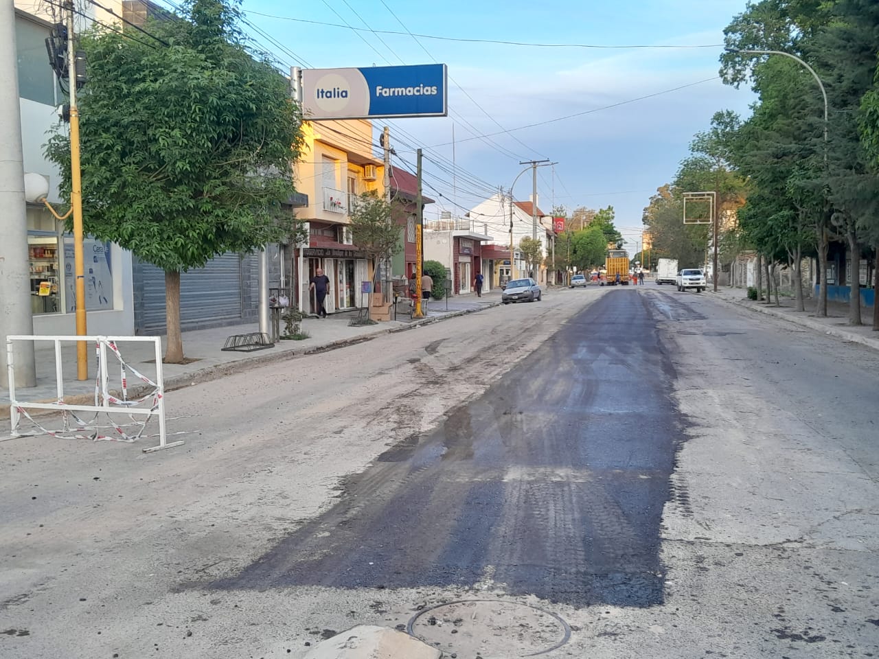
M301 112L287 80L245 47L237 18L235 5L193 0L185 16L149 24L156 40L105 30L81 42L84 230L165 272L172 363L184 358L180 272L295 230L281 204L294 192ZM62 127L47 156L69 193Z

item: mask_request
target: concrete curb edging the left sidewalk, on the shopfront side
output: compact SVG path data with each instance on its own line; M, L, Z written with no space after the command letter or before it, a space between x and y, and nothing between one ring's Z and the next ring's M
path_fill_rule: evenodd
M201 368L199 370L193 371L191 373L180 373L179 375L172 375L169 378L165 378L164 380L164 392L167 394L169 391L176 391L178 389L182 389L184 387L191 387L194 384L202 384L204 382L211 382L213 380L220 380L220 378L224 378L227 375L232 375L234 373L243 373L245 371L250 371L251 369L258 368L259 366L265 366L267 364L277 364L280 361L286 361L287 359L294 359L297 357L305 357L306 355L314 355L321 352L328 352L332 350L338 350L339 348L346 348L349 345L363 344L367 343L367 341L372 341L376 337L381 337L386 334L394 334L396 332L404 332L410 329L416 329L422 325L430 325L434 322L440 322L447 320L449 318L455 318L461 315L475 314L476 312L483 311L484 309L498 307L500 302L490 302L489 304L484 305L480 308L472 308L472 309L462 309L461 311L454 311L450 314L445 315L436 315L428 318L424 318L418 321L410 322L408 325L399 328L389 327L388 329L381 329L379 331L375 331L372 334L368 334L364 337L352 337L352 338L344 338L339 339L338 341L331 341L328 344L322 345L312 345L309 348L291 348L289 350L273 352L273 353L264 353L261 355L254 355L253 357L245 357L243 359L238 359L233 362L227 362L225 364L217 364L215 366L207 366L207 368ZM152 389L147 386L138 386L138 387L129 387L128 388L128 396L130 398L137 398L142 395L146 395ZM111 393L119 395L118 391L112 391ZM65 402L68 402L70 405L87 405L91 402L94 402L95 395L94 394L76 394L64 396ZM55 402L53 399L46 399L37 402ZM35 410L39 413L40 410ZM48 410L51 411L51 410ZM10 417L9 414L9 405L4 404L0 407L0 419L8 419Z

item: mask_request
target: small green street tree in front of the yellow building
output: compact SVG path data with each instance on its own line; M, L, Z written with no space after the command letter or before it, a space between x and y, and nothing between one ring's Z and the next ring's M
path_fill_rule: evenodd
M390 204L375 192L363 192L348 210L352 243L373 262L373 290L381 272L379 264L388 262L400 250L400 225L392 217L395 210L399 212L401 206ZM371 306L367 305L367 318Z

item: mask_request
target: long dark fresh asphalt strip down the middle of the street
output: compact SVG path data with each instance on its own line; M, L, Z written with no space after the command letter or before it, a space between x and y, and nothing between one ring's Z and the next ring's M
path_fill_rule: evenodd
M630 291L602 296L212 587L493 583L576 607L661 603L660 523L683 421L656 313Z

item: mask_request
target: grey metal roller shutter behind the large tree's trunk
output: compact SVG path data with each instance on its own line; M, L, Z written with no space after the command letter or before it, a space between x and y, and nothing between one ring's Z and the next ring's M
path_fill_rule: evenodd
M165 327L164 272L155 265L142 265L143 333L163 332ZM181 329L222 324L242 317L241 257L229 252L214 257L204 268L180 274Z

